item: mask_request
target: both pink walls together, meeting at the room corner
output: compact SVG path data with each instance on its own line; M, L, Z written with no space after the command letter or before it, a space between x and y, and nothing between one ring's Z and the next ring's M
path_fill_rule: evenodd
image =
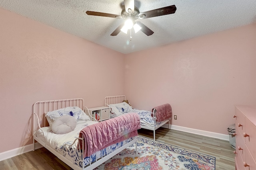
M32 143L39 100L96 107L126 94L140 109L170 103L174 125L222 134L234 104L256 105L256 24L124 55L2 9L0 23L0 153Z

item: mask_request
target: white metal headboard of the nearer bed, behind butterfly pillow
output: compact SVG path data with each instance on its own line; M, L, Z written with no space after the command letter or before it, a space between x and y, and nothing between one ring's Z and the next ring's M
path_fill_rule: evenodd
M37 128L39 124L40 127L46 126L46 117L45 113L48 111L53 111L61 109L64 107L77 106L84 110L84 99L62 99L62 100L48 100L48 101L39 101L33 105L33 127ZM36 118L38 117L38 119ZM39 120L39 121L37 121Z

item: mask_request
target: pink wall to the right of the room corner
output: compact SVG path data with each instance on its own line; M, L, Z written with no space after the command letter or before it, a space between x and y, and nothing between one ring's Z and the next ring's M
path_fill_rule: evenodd
M170 103L173 125L228 134L234 104L256 105L256 24L128 54L125 69L132 106Z

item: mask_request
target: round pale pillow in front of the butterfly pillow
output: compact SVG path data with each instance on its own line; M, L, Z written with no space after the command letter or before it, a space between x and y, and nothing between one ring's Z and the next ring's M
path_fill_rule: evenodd
M70 115L60 116L52 123L52 131L56 134L65 134L74 131L76 118Z

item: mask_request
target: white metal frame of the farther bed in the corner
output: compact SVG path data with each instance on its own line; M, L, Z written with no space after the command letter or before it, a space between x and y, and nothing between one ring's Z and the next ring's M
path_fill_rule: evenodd
M105 106L109 107L108 105L110 104L118 104L118 103L122 103L124 100L126 100L126 96L125 95L120 95L120 96L107 96L105 97ZM111 109L110 109L111 110ZM170 119L162 121L161 124L157 124L157 120L156 120L156 110L153 109L153 112L148 113L148 114L153 114L153 118L154 118L154 124L150 125L150 126L143 126L141 125L142 129L148 129L153 131L153 136L154 136L154 141L156 140L156 129L158 129L159 127L161 127L162 125L168 123L168 129L170 129Z

